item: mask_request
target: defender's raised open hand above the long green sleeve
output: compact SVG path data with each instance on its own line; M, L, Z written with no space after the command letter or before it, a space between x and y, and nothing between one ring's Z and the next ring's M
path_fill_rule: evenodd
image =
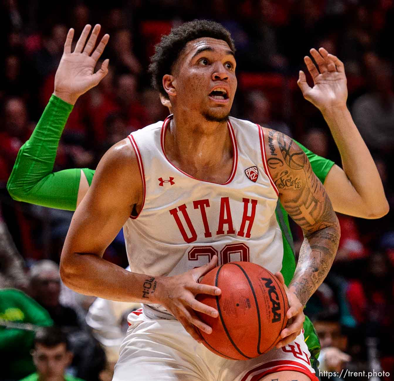
M91 26L86 25L76 43L74 52L71 52L74 29L71 28L69 33L67 33L63 56L55 75L54 90L54 94L65 102L75 104L79 96L95 87L108 73L109 59L102 63L100 70L96 73L93 72L97 60L100 58L110 38L108 34L105 34L97 48L93 50L100 28L100 25L96 24L89 40L87 40Z

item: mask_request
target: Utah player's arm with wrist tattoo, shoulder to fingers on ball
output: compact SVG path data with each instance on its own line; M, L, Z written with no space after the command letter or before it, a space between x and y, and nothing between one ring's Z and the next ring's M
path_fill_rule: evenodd
M81 294L164 305L191 336L201 341L193 326L206 333L211 333L212 329L201 322L193 310L210 316L217 316L217 311L197 301L195 295L217 295L220 290L197 281L216 266L217 257L205 266L172 277L129 272L102 258L134 205L139 210L142 199L138 161L130 142L125 139L103 156L89 191L74 213L61 254L61 279ZM153 286L154 292L146 292L146 282Z

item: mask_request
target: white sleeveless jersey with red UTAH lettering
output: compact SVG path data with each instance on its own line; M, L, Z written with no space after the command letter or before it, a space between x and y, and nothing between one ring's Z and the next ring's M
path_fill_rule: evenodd
M128 136L143 181L141 211L124 226L131 271L172 276L206 264L215 254L219 264L249 261L280 271L278 191L266 165L263 129L229 118L232 173L217 184L193 178L169 161L164 137L171 118Z

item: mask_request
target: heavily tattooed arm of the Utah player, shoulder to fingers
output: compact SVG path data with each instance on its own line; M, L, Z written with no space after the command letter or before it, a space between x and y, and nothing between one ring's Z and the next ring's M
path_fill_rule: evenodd
M288 318L294 322L282 332L283 346L302 328L302 309L323 282L338 249L340 227L323 184L312 171L303 150L283 133L264 128L269 172L283 207L301 227L304 241L296 272L288 287Z

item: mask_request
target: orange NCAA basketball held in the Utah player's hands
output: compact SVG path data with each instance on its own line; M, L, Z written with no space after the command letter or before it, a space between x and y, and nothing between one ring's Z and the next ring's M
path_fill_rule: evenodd
M221 357L248 360L271 350L286 327L289 308L280 281L255 263L231 262L212 269L200 283L221 289L221 295L196 299L219 312L217 318L198 313L210 335L197 329L203 344Z

